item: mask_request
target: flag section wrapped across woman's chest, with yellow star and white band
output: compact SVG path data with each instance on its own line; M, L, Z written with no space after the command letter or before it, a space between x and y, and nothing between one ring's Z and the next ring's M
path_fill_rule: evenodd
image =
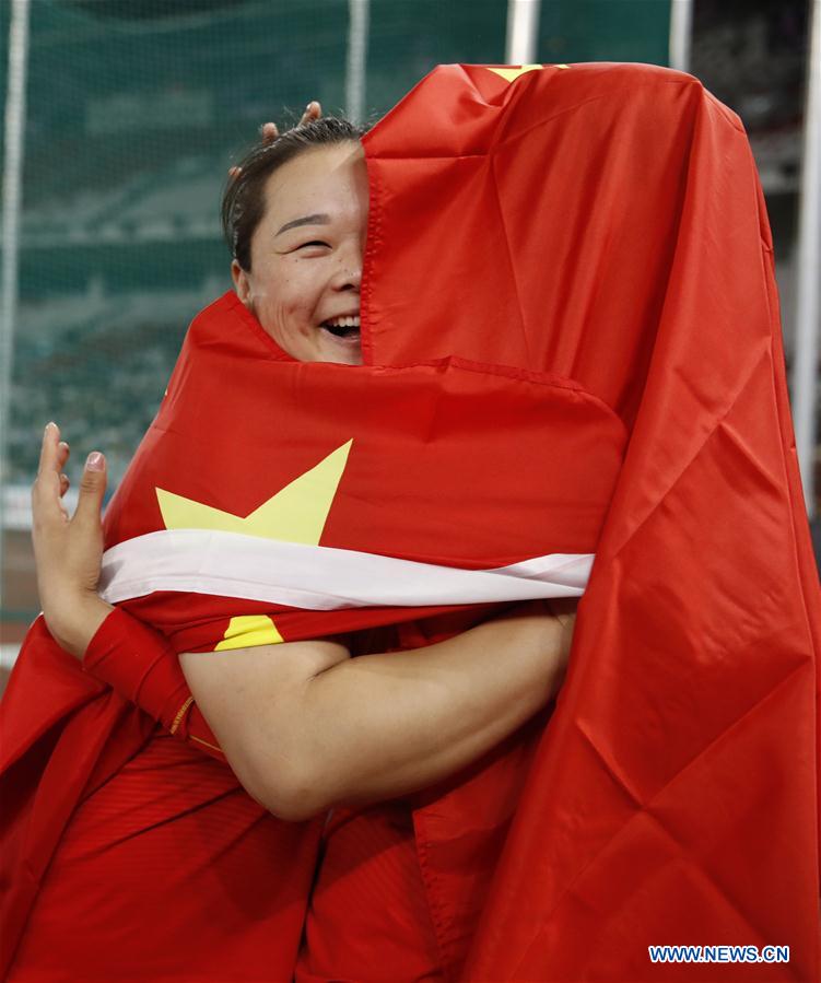
M296 362L226 294L108 508L103 596L186 652L578 594L624 436L548 373Z

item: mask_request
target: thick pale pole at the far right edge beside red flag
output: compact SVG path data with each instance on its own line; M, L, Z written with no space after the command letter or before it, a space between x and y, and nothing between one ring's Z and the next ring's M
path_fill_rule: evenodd
M810 4L810 46L798 214L798 297L793 361L793 418L807 512L816 515L814 454L821 270L821 3Z

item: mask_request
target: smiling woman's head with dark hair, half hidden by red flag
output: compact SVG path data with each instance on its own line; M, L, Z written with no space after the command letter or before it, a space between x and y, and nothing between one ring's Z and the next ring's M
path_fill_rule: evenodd
M237 295L302 362L362 364L363 133L326 117L257 147L223 200Z

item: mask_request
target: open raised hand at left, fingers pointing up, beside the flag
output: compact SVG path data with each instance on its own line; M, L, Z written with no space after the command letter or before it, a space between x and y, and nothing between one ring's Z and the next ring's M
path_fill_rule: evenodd
M39 470L32 488L32 540L37 565L37 590L48 630L59 645L82 657L108 612L97 595L103 557L101 506L106 487L105 458L89 455L72 518L62 496L69 479L62 468L69 445L56 423L43 434Z

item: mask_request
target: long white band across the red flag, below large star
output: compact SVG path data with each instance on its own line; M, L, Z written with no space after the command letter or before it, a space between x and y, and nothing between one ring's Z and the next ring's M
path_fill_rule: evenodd
M106 550L101 594L115 604L177 590L312 611L578 597L593 559L552 553L496 570L461 570L236 533L163 529Z

